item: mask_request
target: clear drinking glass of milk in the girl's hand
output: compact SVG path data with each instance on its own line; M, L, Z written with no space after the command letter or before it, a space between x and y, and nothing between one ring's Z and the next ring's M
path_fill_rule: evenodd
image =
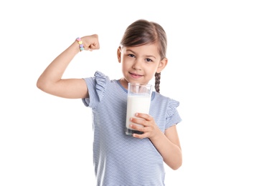
M131 117L135 117L137 112L148 114L150 104L151 104L151 94L153 86L151 84L136 84L128 83L128 95L127 95L127 112L126 112L126 131L127 135L143 134L138 130L133 130L129 127L132 123L130 121ZM141 118L140 118L141 119ZM134 124L134 123L133 123ZM143 125L137 124L141 127Z

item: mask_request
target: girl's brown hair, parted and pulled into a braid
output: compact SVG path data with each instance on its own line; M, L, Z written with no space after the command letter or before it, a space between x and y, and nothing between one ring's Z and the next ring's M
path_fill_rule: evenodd
M138 19L130 24L123 34L120 46L141 46L144 44L158 44L161 59L166 57L167 37L163 27L156 22ZM155 74L155 89L160 92L161 72Z

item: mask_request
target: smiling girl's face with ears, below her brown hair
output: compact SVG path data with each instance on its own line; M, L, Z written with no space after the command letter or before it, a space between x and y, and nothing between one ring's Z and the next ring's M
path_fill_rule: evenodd
M156 72L166 67L156 44L118 48L118 62L122 64L123 78L120 84L127 89L128 82L148 84Z

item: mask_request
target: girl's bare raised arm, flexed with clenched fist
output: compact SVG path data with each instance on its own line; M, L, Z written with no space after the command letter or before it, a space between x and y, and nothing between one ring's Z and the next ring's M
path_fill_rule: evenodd
M98 35L83 36L82 44L85 50L93 51L100 49ZM80 52L77 41L74 41L64 52L56 57L44 70L37 80L37 87L48 94L65 98L85 98L88 97L85 80L62 79L62 75L67 69L72 59Z

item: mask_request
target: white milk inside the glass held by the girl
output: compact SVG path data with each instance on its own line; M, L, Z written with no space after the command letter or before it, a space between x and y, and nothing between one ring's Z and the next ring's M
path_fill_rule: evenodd
M148 114L151 104L151 95L138 95L127 97L126 128L130 129L130 118L135 117L137 112ZM142 126L141 124L137 124Z

